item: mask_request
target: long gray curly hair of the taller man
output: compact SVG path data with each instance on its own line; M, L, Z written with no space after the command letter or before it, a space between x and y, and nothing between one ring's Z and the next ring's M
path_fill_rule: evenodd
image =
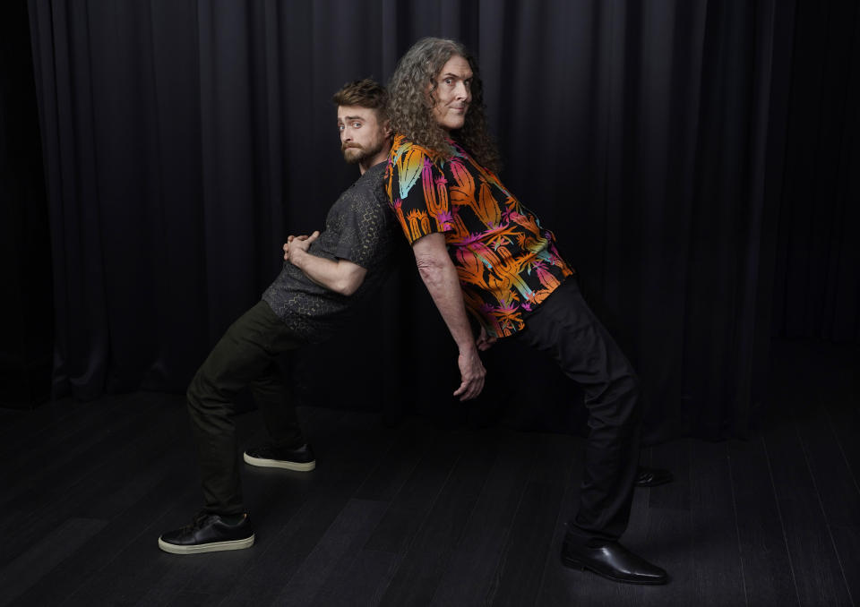
M436 81L452 56L461 56L472 70L472 101L463 127L447 133L433 117ZM430 95L427 95L427 85ZM446 141L451 136L484 167L498 173L501 158L486 126L484 86L477 61L460 42L444 38L421 38L400 57L388 84L388 118L394 133L445 157L453 150Z

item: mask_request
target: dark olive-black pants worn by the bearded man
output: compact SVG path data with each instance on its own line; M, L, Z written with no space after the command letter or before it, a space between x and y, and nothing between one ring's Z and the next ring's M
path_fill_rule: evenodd
M213 514L245 512L239 481L234 398L250 385L271 439L304 444L296 408L289 402L275 356L305 345L271 311L257 303L234 322L212 349L188 387L188 412L202 472L205 508Z

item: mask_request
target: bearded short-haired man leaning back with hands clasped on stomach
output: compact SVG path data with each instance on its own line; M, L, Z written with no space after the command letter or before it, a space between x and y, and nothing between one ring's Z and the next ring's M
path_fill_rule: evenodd
M330 337L389 274L397 228L382 187L391 148L385 90L374 81L356 81L333 101L343 156L358 165L361 176L332 205L322 233L288 237L278 278L262 301L227 330L194 376L188 411L205 506L190 525L159 537L163 551L193 554L254 544L230 419L233 398L250 385L271 437L268 444L245 451L247 464L313 470L314 453L275 357Z

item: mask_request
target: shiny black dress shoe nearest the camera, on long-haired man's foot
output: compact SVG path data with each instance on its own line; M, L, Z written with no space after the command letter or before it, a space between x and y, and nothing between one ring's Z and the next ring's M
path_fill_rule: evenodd
M564 538L562 562L572 569L593 571L598 576L625 584L666 584L664 569L651 565L620 543L606 542L592 547L588 542Z

